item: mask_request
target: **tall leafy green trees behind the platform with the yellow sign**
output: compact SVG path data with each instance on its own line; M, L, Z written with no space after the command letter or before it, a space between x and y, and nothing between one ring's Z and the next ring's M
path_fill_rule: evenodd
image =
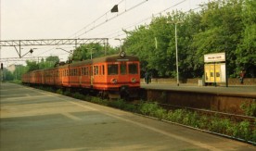
M204 5L200 12L176 11L126 31L123 47L140 57L143 71L156 70L155 77L175 77L175 25L167 21L182 21L176 24L181 77L201 77L203 56L220 52L226 53L229 76L236 77L245 68L247 77L255 77L255 6L254 0L219 0Z

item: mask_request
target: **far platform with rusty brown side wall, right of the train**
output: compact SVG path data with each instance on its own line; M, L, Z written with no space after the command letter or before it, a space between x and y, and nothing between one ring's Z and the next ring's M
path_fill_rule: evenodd
M256 86L198 86L196 84L141 84L147 100L175 107L208 109L245 115L242 106L256 104Z

